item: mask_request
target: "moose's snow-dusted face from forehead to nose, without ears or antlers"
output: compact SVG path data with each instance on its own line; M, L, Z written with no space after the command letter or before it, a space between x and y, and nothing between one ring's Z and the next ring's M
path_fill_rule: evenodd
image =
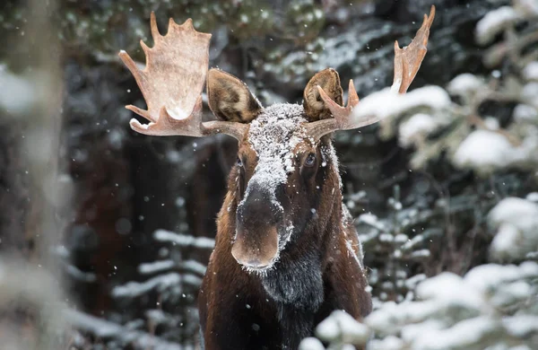
M231 253L247 270L273 267L293 235L317 213L327 154L308 137L299 105L273 105L252 122L232 172L236 236ZM326 169L323 169L325 172Z

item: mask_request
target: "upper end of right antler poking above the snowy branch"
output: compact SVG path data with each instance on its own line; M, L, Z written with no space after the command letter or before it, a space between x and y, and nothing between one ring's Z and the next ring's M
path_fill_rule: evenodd
M409 46L400 48L395 41L395 78L391 90L405 93L421 67L426 56L430 27L435 17L435 6L431 5L430 16L424 14L421 29L417 31Z

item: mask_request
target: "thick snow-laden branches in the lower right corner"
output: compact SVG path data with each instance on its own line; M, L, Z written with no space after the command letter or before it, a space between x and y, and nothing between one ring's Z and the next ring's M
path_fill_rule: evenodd
M375 334L370 350L504 349L507 341L536 348L538 310L530 306L536 303L537 279L538 264L528 261L482 265L464 277L445 272L417 286L418 301L386 302L363 324L334 312L319 324L317 337L331 349L363 345L370 333Z

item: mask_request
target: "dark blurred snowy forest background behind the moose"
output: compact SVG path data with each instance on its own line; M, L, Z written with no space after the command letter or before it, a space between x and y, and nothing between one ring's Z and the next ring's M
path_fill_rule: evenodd
M538 202L533 0L57 0L43 2L42 13L30 4L0 4L0 252L35 262L43 235L35 230L34 203L50 202L55 222L65 225L58 226L61 240L44 251L58 261L53 270L61 271L56 278L74 327L65 339L74 348L196 343L196 291L237 145L226 136L147 137L128 127L133 115L124 106L143 106L143 99L117 52L143 62L139 40L152 44L152 11L161 32L169 17L192 18L196 29L211 32L210 66L235 74L269 105L300 102L308 79L329 66L342 82L354 80L361 99L389 86L395 39L409 43L435 4L429 53L412 89L439 90L421 90L412 108L334 139L375 306L414 300L416 285L443 271L464 276L490 261L537 258L532 233L523 253L500 243L490 248L508 220L491 216L491 208L519 197L528 215ZM489 25L477 27L495 11ZM31 26L45 17L49 26L40 36ZM38 68L48 69L39 65L43 57L57 66L58 84L36 83ZM43 90L62 93L51 114L57 144L48 155L57 154L54 183L62 200L32 188L33 161L24 148L29 130L41 125L41 109L26 106L35 96L47 100ZM431 96L444 102L424 101ZM426 117L415 117L420 113ZM526 148L503 146L493 158L505 162L481 162L489 148L480 142L469 146L482 149L478 161L464 151L456 156L468 138L480 139L477 131L501 137L486 137L486 144ZM502 226L505 235L517 226L510 224ZM534 224L516 229L537 232ZM536 302L535 278L532 285ZM528 338L536 341L535 333Z

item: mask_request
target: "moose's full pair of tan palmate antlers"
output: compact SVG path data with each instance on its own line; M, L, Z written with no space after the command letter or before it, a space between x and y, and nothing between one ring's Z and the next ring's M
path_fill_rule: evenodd
M395 42L395 79L392 92L406 92L417 74L426 55L434 16L435 7L431 6L430 16L424 15L421 29L408 47L399 48L398 42ZM125 51L119 53L119 57L134 75L148 106L147 110L133 105L126 106L150 121L149 124L143 125L138 120L131 119L131 127L141 134L153 136L202 137L221 133L242 140L246 135L247 124L221 120L202 122L202 90L209 63L211 34L195 31L190 19L181 25L170 19L168 33L161 36L154 13L151 23L155 45L148 48L141 41L146 55L146 66L143 70L136 66ZM365 127L379 120L373 115L351 118L351 110L359 103L352 81L346 107L331 100L321 87L317 86L317 89L334 118L305 125L310 137L319 139L336 130Z

